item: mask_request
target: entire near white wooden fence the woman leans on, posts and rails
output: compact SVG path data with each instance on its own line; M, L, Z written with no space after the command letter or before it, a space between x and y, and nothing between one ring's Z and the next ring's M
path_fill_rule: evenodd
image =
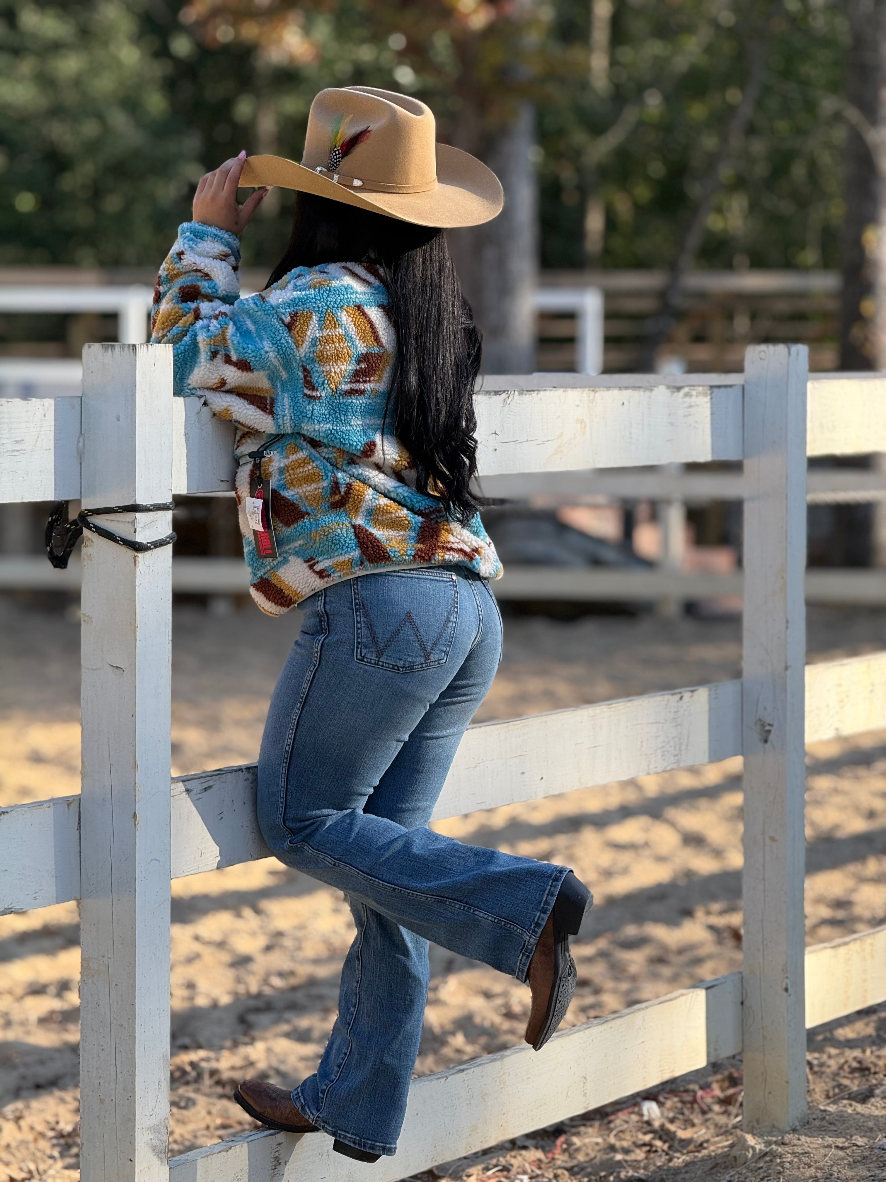
M174 400L167 346L91 345L83 395L0 400L0 500L162 502L230 488L230 428ZM802 346L743 381L487 378L481 473L743 460L741 681L471 727L435 816L744 756L744 963L528 1047L416 1080L373 1167L262 1131L167 1160L170 879L268 856L254 767L170 785L169 548L86 534L83 792L0 810L0 911L82 901L83 1182L392 1182L743 1053L745 1124L806 1105L807 1026L886 1000L886 927L804 949L803 741L886 725L886 652L804 670L806 456L886 450L884 378L807 381ZM878 397L872 397L877 391ZM168 513L105 519L131 537Z

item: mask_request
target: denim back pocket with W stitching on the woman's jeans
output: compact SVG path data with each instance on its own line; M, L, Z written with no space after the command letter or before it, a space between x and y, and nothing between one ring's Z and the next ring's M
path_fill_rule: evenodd
M450 571L364 574L351 580L354 657L392 673L447 663L458 618Z

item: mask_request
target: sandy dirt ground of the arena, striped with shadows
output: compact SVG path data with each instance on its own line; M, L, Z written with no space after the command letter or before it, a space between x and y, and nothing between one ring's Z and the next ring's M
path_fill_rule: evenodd
M177 773L255 758L298 628L247 608L176 609ZM0 599L0 804L78 790L76 613ZM885 611L814 609L809 660L886 648ZM480 720L738 675L736 621L506 619ZM886 730L808 754L810 943L884 922ZM457 818L439 829L573 865L595 907L573 942L566 1026L741 966L741 761L640 777ZM315 1066L351 939L340 895L267 860L172 885L171 1152L252 1122L243 1076L294 1084ZM0 917L0 1182L77 1177L76 904ZM515 1045L525 986L432 948L421 1074ZM812 1109L796 1132L743 1138L741 1063L718 1064L425 1178L645 1182L886 1180L886 1006L809 1035ZM654 1100L654 1105L641 1103ZM369 1177L369 1174L367 1174Z

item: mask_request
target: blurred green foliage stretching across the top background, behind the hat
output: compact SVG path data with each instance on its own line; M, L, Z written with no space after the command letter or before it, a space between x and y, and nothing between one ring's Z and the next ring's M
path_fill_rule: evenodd
M602 261L667 266L768 40L699 265L838 265L840 0L617 0L608 78L588 78L591 0L0 0L0 262L155 264L207 168L241 147L298 158L313 95L425 98L465 142L515 100L539 110L542 261L578 267L602 201ZM469 122L469 121L468 121ZM468 129L469 131L469 129ZM256 219L271 264L289 195ZM598 260L593 260L598 261Z

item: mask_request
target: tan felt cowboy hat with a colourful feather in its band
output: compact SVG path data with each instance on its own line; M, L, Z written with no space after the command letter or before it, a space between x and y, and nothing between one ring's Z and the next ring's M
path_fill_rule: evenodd
M501 212L499 178L467 151L438 144L424 103L373 86L321 90L301 163L249 156L241 186L276 184L418 226L478 226Z

